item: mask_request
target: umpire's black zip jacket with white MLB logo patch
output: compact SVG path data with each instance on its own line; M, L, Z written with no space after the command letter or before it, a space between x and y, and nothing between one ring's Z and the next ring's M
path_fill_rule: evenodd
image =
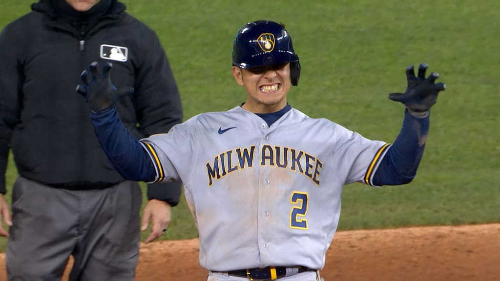
M74 22L40 0L3 28L0 193L5 193L9 147L21 176L54 187L95 188L123 180L97 142L87 104L75 92L81 71L94 60L113 63L117 88L134 87L133 96L121 98L117 108L136 137L167 132L181 122L178 89L156 34L127 14L124 4L107 2L95 19ZM148 197L175 205L179 183L161 187L149 186Z

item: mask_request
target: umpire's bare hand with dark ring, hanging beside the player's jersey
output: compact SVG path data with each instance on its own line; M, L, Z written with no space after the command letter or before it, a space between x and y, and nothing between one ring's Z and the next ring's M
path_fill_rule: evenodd
M151 199L147 202L142 212L142 226L141 230L147 229L149 220L152 220L152 229L149 236L144 240L144 243L154 241L166 231L166 227L170 222L170 208L171 206L161 200Z

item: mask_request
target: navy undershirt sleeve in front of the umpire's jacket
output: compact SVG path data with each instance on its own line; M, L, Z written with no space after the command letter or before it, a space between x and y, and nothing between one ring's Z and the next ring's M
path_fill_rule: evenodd
M90 113L90 119L102 149L121 176L134 181L154 181L156 171L149 154L123 126L115 107L99 114Z

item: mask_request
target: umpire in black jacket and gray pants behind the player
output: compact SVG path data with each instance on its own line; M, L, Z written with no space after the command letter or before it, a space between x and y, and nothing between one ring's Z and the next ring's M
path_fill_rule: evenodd
M9 233L8 280L133 280L139 253L137 182L124 180L93 133L85 101L74 94L81 69L113 63L118 102L137 138L181 122L178 89L154 31L117 0L40 0L0 34L0 212ZM11 148L19 176L12 219L3 198ZM170 185L170 186L167 186ZM180 183L148 185L146 242L165 230Z

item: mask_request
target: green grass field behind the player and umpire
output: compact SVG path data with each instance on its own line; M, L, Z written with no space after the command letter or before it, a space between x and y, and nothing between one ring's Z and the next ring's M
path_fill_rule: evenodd
M2 0L0 28L30 2ZM282 21L293 38L302 73L292 106L372 139L396 137L403 106L387 93L404 90L407 65L427 62L447 88L432 109L417 177L405 186L346 186L339 229L500 221L499 1L124 2L159 35L186 118L244 101L230 74L231 47L251 20ZM10 162L8 187L15 177ZM182 200L163 238L195 236Z

